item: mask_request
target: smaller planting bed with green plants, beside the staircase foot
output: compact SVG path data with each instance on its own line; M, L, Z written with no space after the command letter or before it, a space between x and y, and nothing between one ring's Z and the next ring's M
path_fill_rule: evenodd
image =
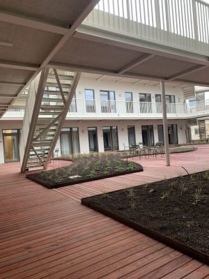
M141 165L128 160L121 160L121 154L119 153L97 153L96 155L79 156L73 160L71 165L27 174L26 177L47 188L58 188L142 171L143 167Z

